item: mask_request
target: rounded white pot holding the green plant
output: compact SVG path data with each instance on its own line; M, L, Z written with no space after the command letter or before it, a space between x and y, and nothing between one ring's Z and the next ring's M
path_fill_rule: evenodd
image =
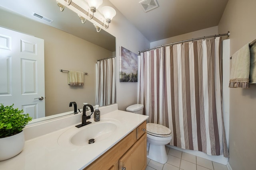
M0 138L0 161L12 158L19 154L25 144L24 131L20 133Z

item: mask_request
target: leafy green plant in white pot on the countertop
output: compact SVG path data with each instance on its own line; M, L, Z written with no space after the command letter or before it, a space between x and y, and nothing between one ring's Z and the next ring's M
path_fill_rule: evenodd
M0 104L0 161L19 154L25 143L22 130L32 117L23 114L23 110L14 109L14 104Z

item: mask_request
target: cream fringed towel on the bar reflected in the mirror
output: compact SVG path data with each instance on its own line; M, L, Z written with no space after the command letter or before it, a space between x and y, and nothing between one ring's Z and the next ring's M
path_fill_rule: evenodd
M84 72L70 70L68 72L68 84L70 86L84 86Z

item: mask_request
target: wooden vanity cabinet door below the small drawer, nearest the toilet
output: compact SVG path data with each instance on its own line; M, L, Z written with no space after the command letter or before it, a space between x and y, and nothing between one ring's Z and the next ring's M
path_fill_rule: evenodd
M119 170L145 170L147 162L146 133L120 158Z

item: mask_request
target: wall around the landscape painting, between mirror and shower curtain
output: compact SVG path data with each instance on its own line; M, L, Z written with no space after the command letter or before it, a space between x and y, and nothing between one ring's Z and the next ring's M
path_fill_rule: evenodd
M108 0L104 0L102 6L114 5ZM150 42L128 21L116 8L116 16L111 21L109 28L105 29L108 33L116 37L116 101L118 109L125 110L131 104L137 104L137 86L136 82L119 82L119 59L120 46L138 53L150 47Z

